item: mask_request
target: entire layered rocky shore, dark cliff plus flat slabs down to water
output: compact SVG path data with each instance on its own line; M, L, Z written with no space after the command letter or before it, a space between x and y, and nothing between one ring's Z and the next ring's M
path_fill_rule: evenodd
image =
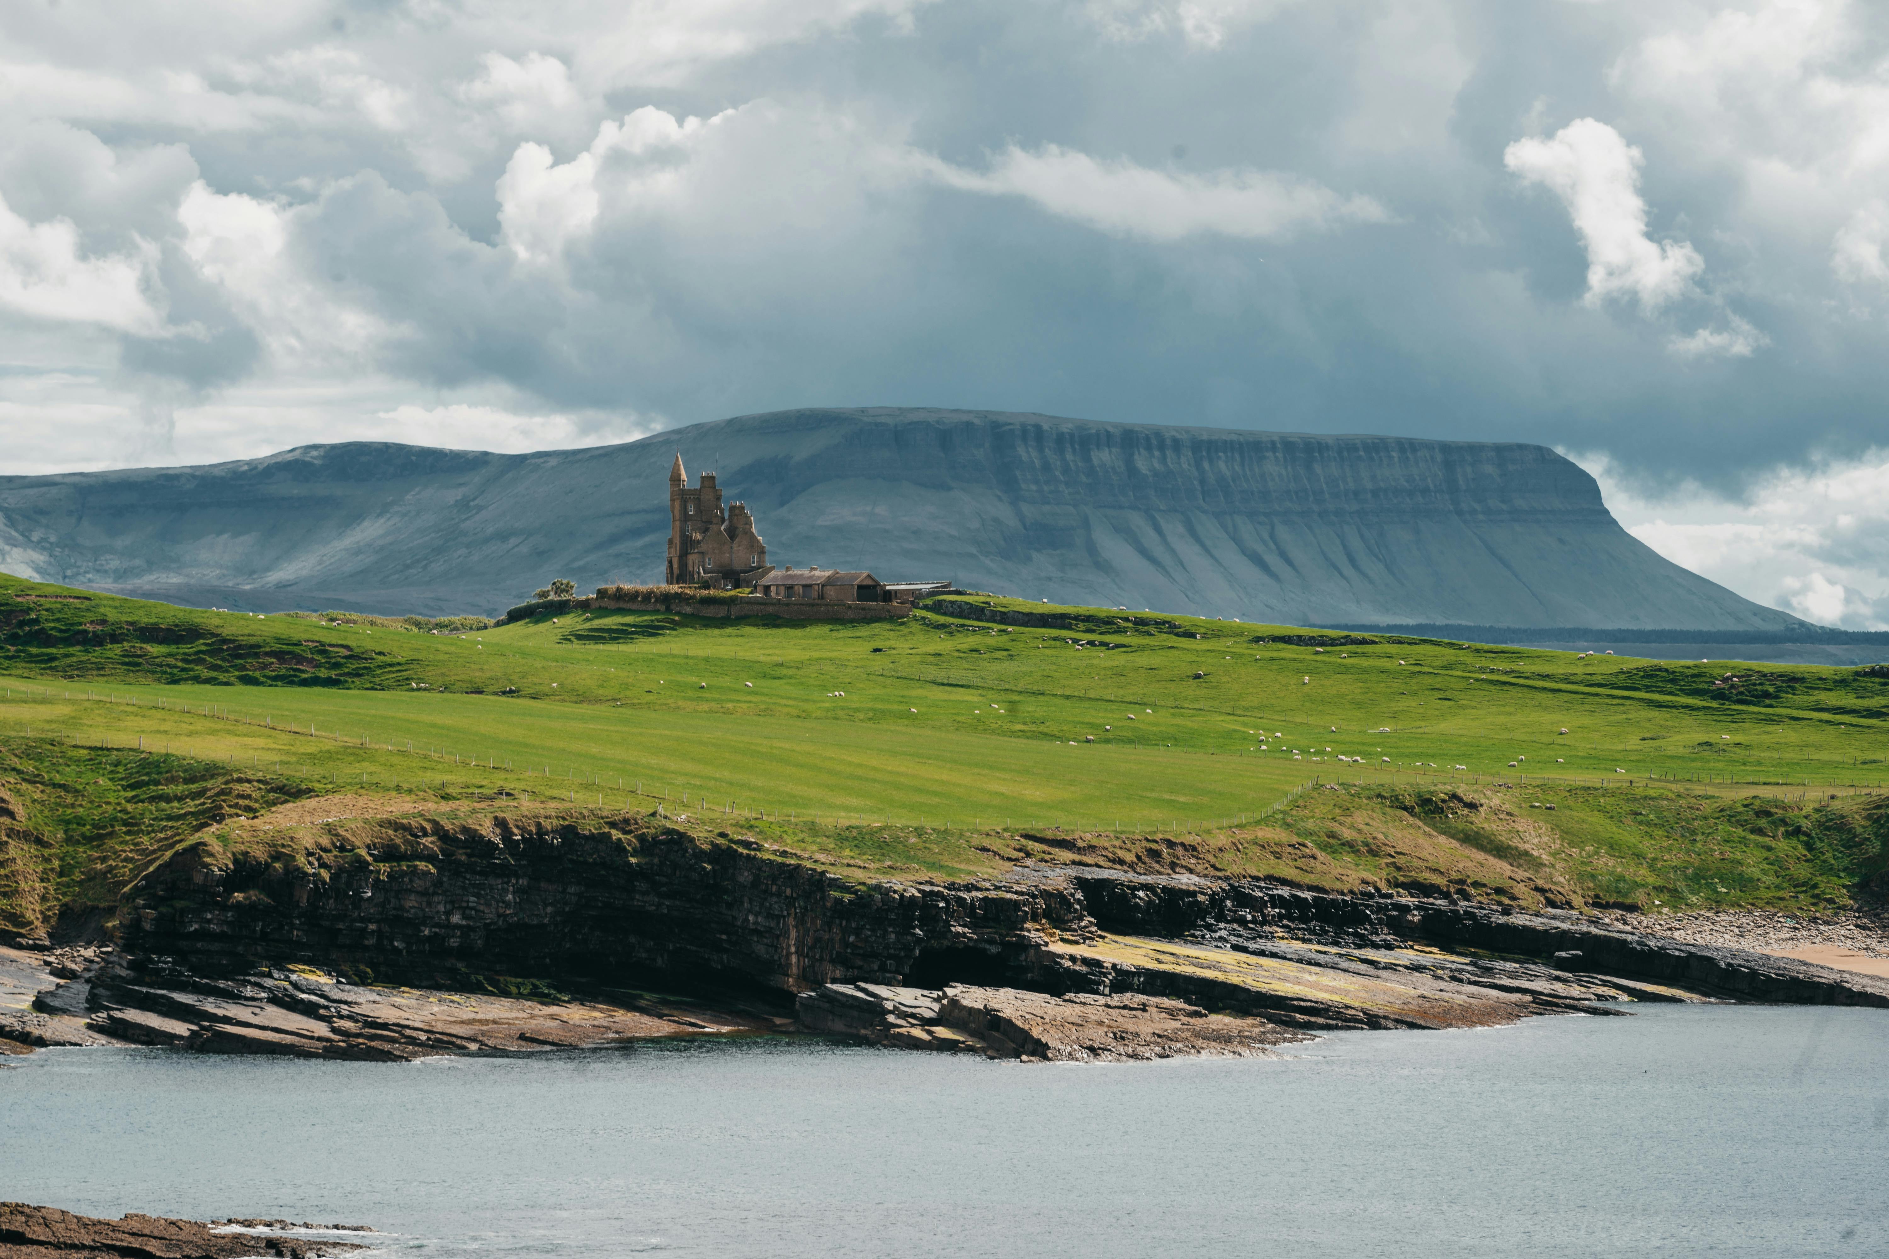
M68 955L32 1008L0 991L0 1036L402 1059L797 1017L878 1044L1079 1059L1642 1000L1889 1008L1889 980L1572 912L1086 866L861 883L650 814L346 819L297 844L179 849L138 885L125 953ZM803 993L818 997L797 1006ZM846 1021L848 1000L937 1010Z

